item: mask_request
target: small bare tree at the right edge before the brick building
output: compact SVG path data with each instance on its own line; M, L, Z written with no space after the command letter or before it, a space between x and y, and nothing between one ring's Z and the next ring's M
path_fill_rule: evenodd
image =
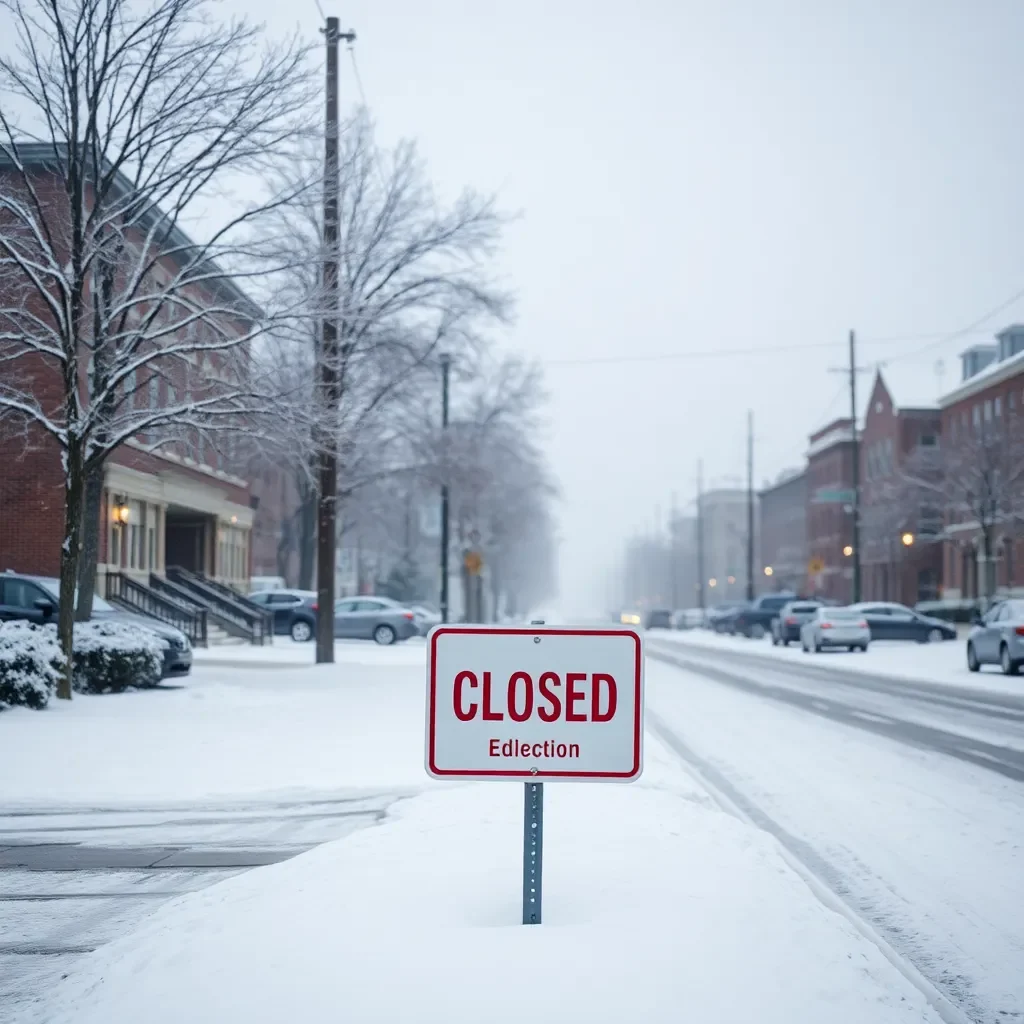
M943 437L941 447L919 447L904 473L923 517L944 520L943 537L977 538L979 591L988 599L996 586L997 534L1013 531L1024 493L1024 417L1001 402L994 410Z

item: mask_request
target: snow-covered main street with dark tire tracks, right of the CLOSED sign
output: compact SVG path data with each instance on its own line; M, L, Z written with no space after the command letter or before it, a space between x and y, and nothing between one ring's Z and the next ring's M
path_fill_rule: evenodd
M648 727L971 1019L1024 1020L1024 708L830 660L650 641Z

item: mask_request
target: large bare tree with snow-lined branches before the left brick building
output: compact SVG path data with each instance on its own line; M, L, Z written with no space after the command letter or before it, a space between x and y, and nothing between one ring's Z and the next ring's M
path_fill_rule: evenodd
M70 652L97 525L93 489L83 529L87 481L119 445L260 412L248 378L266 322L234 282L280 269L266 215L302 186L227 196L290 150L311 83L302 45L264 46L210 0L2 6L15 33L0 54L0 410L60 452ZM52 390L33 383L40 366ZM84 608L91 591L84 580Z

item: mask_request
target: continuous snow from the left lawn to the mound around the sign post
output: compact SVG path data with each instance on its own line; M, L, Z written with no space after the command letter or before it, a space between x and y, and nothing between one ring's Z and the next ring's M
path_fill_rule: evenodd
M25 1020L938 1020L656 739L635 785L547 787L545 923L522 927L521 786L426 778L422 644L339 650L0 716L22 769L6 809L410 795L381 825L157 908Z

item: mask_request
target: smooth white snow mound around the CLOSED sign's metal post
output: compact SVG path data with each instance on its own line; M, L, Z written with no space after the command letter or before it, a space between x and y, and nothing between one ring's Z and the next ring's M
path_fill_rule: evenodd
M444 788L164 906L26 1019L937 1020L762 834L643 785L547 790L542 926L518 924L521 787Z

